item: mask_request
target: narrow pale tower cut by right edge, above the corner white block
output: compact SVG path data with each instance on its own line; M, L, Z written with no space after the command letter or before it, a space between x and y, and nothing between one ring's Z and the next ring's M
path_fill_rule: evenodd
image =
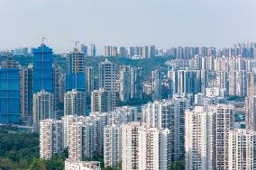
M245 99L245 124L247 130L256 130L256 95Z

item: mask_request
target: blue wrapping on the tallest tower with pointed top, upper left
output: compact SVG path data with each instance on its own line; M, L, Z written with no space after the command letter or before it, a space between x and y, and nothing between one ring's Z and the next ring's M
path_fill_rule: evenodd
M42 89L53 93L53 68L52 49L42 44L37 49L32 49L33 62L33 93Z

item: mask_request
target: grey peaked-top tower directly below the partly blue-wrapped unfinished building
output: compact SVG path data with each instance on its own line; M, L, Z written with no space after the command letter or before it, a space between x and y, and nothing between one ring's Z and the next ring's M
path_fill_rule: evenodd
M64 116L66 115L87 115L87 95L76 89L69 91L64 97Z

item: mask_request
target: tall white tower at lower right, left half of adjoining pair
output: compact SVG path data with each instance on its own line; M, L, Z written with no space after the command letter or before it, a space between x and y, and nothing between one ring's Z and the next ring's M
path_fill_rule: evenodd
M185 119L186 170L206 170L207 165L207 113L204 106L187 110Z

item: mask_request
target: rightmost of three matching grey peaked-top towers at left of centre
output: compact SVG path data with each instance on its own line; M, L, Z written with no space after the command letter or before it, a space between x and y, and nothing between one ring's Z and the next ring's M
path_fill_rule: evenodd
M91 94L91 112L110 112L110 93L104 88L94 90Z

